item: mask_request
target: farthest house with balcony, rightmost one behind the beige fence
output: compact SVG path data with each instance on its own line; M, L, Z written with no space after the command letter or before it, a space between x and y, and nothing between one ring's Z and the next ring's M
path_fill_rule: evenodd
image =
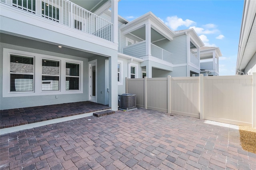
M204 76L219 75L219 57L221 56L219 47L201 47L200 73Z

